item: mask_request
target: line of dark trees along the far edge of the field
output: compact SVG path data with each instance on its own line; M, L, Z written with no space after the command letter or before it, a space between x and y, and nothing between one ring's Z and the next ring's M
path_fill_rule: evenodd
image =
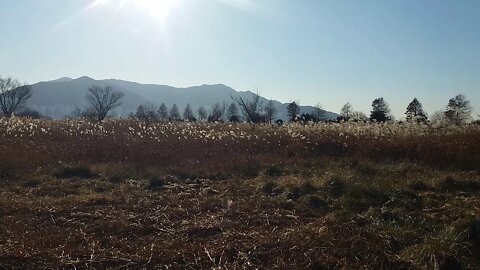
M85 99L88 107L81 110L79 108L72 112L73 117L84 117L97 122L103 121L113 109L122 104L124 93L115 90L111 86L92 85L87 89ZM28 99L32 96L31 86L21 84L18 80L12 78L0 77L0 109L5 117L16 116L39 118L40 113L33 111L25 106ZM263 104L260 95L255 93L252 98L246 99L241 96L231 96L232 102L214 103L209 110L204 106L199 107L195 112L190 104L187 104L180 113L176 104L168 108L165 103L160 106L151 104L140 105L129 117L145 122L156 121L189 121L189 122L249 122L249 123L283 123L283 120L275 117L278 113L272 100ZM383 97L373 100L370 115L355 111L350 103L346 103L340 110L337 119L327 119L325 111L320 105L313 107L311 112L300 114L300 105L298 101L290 102L287 106L287 116L290 122L322 122L322 121L371 121L388 122L393 121L389 104ZM452 97L445 110L436 111L430 117L424 111L422 103L414 98L406 107L405 115L407 122L417 123L445 123L445 124L464 124L473 120L473 107L470 101L464 95ZM477 120L477 123L479 121Z

